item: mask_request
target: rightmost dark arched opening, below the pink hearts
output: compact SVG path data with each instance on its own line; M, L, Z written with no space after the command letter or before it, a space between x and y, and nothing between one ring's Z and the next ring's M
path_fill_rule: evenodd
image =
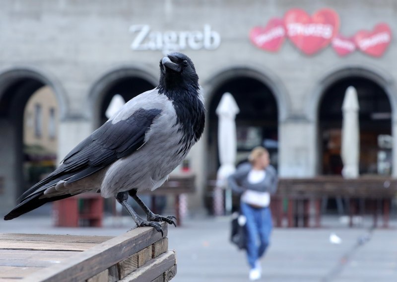
M392 110L381 85L362 77L346 77L328 87L319 107L320 163L323 174L341 174L342 102L347 87L357 90L360 124L360 164L363 174L391 174Z

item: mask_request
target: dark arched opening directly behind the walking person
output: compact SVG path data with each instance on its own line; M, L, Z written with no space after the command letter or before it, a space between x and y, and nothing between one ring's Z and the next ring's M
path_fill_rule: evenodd
M265 146L270 154L271 164L278 164L278 109L270 88L265 83L249 76L236 76L222 83L212 94L209 104L207 122L208 151L207 177L208 186L205 194L205 206L212 213L212 191L216 172L220 166L218 157L218 116L216 108L225 92L233 95L240 109L236 116L237 156L236 165L247 161L249 152L256 146ZM238 206L238 199L233 199L233 207Z

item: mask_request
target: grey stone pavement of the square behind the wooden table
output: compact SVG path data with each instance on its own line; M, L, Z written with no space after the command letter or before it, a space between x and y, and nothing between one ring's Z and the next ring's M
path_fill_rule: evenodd
M116 224L108 217L103 228L56 228L49 216L25 215L0 220L0 232L117 236L131 223L129 217ZM330 243L332 232L341 244ZM229 243L228 217L187 219L184 226L170 226L168 237L170 249L177 251L178 274L172 281L248 281L245 253ZM262 268L265 282L395 282L397 231L275 228Z

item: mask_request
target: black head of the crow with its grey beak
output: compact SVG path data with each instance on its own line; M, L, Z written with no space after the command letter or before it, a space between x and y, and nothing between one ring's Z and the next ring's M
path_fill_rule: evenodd
M199 76L192 60L182 53L170 53L160 60L160 90L199 89Z

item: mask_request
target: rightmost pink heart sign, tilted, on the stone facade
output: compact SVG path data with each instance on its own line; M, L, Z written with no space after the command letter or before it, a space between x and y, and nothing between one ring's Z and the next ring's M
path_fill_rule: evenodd
M380 23L372 31L358 31L354 40L362 52L373 57L381 57L392 41L392 31L389 25Z

